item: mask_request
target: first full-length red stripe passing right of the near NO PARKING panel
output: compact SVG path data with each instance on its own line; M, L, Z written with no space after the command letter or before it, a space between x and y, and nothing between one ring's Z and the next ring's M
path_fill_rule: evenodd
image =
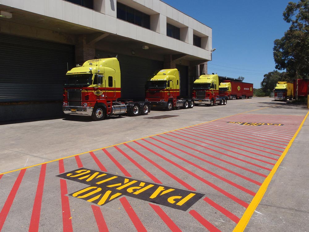
M160 155L159 153L156 153L155 151L151 150L150 148L138 143L137 141L134 141L136 144L140 145L141 147L145 148L146 150L150 151L151 153L154 153L155 155L157 155L158 157L162 158L163 160L171 163L172 165L178 167L179 169L183 170L184 172L190 174L191 176L197 178L198 180L200 180L201 182L207 184L208 186L212 187L213 189L217 190L218 192L222 193L223 195L225 195L226 197L230 198L231 200L235 201L236 203L242 205L243 207L247 208L249 206L248 203L244 202L243 200L240 200L238 197L228 193L227 191L223 190L222 188L216 186L215 184L211 183L210 181L198 176L197 174L191 172L190 170L182 167L181 165L171 161L170 159L167 159L166 157L164 157L163 155Z

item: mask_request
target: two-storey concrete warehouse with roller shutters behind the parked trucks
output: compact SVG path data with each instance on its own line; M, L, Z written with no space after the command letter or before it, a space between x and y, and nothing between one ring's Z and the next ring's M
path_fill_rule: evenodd
M207 73L212 29L160 0L0 0L0 121L61 117L68 69L115 57L122 97L142 100L155 70L181 94Z

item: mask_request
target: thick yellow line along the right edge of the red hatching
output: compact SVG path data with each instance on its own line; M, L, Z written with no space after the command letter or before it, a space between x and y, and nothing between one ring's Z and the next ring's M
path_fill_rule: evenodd
M253 197L251 203L249 204L249 206L246 209L246 211L243 213L243 217L241 217L241 219L239 220L239 222L235 226L233 232L243 232L243 230L246 228L246 226L247 226L247 224L248 224L252 214L256 210L257 206L260 204L260 201L262 200L262 198L263 198L263 196L264 196L264 194L265 194L265 192L267 190L267 187L268 187L270 181L273 178L273 175L277 171L277 169L278 169L279 165L281 164L283 158L286 156L286 153L290 149L290 147L291 147L292 143L294 142L296 136L298 135L300 129L303 127L303 124L304 124L306 118L308 117L308 114L309 114L309 111L306 114L305 118L303 119L303 122L298 127L298 130L295 132L293 138L290 140L290 142L287 145L286 149L283 151L282 155L280 156L280 158L278 159L276 164L273 166L273 169L270 171L269 175L265 178L265 180L262 183L259 191L257 191L256 195Z

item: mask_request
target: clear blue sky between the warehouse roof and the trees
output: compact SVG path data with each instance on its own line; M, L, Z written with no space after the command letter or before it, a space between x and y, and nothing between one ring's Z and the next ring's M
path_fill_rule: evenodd
M275 70L273 41L290 24L282 13L292 0L163 0L212 28L208 73L238 78L260 88L264 74ZM294 0L298 2L298 0Z

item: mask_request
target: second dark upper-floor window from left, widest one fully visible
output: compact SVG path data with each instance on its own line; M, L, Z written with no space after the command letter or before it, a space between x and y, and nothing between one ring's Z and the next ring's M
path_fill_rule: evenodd
M117 18L150 29L150 16L117 2Z

